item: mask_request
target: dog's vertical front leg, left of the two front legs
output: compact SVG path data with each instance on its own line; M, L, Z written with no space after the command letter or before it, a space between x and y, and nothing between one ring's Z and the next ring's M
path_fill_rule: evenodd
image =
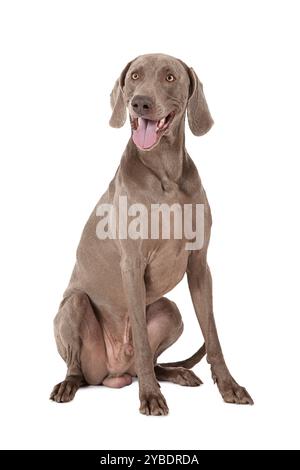
M140 412L145 415L166 415L169 410L155 377L153 354L147 333L145 267L142 260L124 256L121 260L121 271L132 328Z

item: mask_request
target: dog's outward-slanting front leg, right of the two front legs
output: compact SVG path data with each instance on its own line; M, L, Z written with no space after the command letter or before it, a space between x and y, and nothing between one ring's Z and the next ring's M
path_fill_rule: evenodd
M213 315L211 274L206 255L201 251L191 252L187 276L193 305L206 343L207 362L211 364L213 379L224 401L252 405L253 400L249 393L233 379L223 357Z

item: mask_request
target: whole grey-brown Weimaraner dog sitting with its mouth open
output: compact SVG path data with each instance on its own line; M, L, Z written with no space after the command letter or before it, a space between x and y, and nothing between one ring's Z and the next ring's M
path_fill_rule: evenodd
M147 54L127 64L111 93L111 105L110 125L116 128L124 125L128 109L131 138L114 179L84 228L77 262L54 320L67 375L50 398L68 402L80 386L119 388L137 376L140 412L166 415L168 406L158 381L200 385L190 369L207 354L223 399L253 404L231 376L218 339L206 261L211 213L185 148L186 112L194 135L205 134L213 124L202 84L181 60ZM97 208L109 204L120 217L120 197L125 196L128 206L143 204L150 213L157 203L202 205L201 248L186 249L186 237L166 239L161 234L155 239L99 237ZM183 331L178 307L164 295L185 273L205 343L185 361L158 364L158 356Z

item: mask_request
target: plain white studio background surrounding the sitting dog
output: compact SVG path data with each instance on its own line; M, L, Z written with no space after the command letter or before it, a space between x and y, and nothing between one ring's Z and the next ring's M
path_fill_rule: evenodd
M299 2L1 1L1 447L299 448ZM165 52L204 83L215 126L187 148L211 203L209 261L221 343L253 407L162 384L170 415L138 413L137 384L48 400L65 364L52 320L81 230L129 124L108 127L125 64ZM184 280L169 294L202 343Z

